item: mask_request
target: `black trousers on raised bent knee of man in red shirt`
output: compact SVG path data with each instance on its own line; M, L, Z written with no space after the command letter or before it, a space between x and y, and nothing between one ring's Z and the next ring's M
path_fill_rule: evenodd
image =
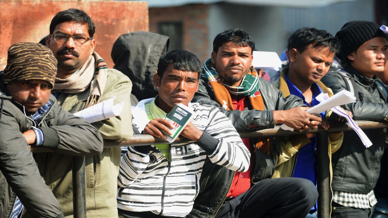
M223 203L216 218L305 218L317 199L310 180L264 179Z

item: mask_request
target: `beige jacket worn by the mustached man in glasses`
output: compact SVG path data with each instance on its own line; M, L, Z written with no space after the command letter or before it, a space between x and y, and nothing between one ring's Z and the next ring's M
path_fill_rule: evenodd
M106 87L101 101L115 96L114 104L124 102L120 116L93 123L102 138L116 141L129 140L133 134L130 79L115 69L108 69ZM63 109L77 112L84 109L90 88L82 93L62 93L58 102ZM82 137L82 135L80 135ZM85 157L86 209L88 218L116 218L117 176L120 165L120 147L105 148L102 154ZM45 162L43 177L57 198L63 214L73 217L72 156L58 153L37 154Z

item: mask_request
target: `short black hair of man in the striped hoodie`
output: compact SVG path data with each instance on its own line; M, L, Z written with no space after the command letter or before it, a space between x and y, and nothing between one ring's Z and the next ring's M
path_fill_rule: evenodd
M199 80L199 76L202 72L201 62L197 56L191 52L177 49L167 52L165 55L160 57L157 70L160 78L163 77L163 73L165 73L168 65L170 64L172 64L173 69L197 72Z

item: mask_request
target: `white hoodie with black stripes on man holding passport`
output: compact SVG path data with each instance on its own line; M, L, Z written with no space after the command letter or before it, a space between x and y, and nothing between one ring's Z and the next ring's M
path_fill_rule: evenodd
M140 132L149 122L144 104L152 100L142 100L132 110L133 123ZM199 192L206 157L230 170L248 170L250 153L229 118L217 107L198 103L188 106L195 112L192 122L204 134L197 143L171 144L170 161L152 145L147 154L136 147L123 148L126 152L121 156L118 175L119 209L184 217Z

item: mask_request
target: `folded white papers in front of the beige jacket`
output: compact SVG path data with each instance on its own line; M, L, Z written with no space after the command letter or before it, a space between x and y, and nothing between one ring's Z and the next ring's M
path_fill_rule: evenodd
M86 119L89 123L94 123L104 119L109 119L115 116L119 116L121 111L123 111L124 102L120 104L113 105L113 100L115 96L112 96L111 99L104 100L94 106L83 109L74 113L75 116L80 116Z

